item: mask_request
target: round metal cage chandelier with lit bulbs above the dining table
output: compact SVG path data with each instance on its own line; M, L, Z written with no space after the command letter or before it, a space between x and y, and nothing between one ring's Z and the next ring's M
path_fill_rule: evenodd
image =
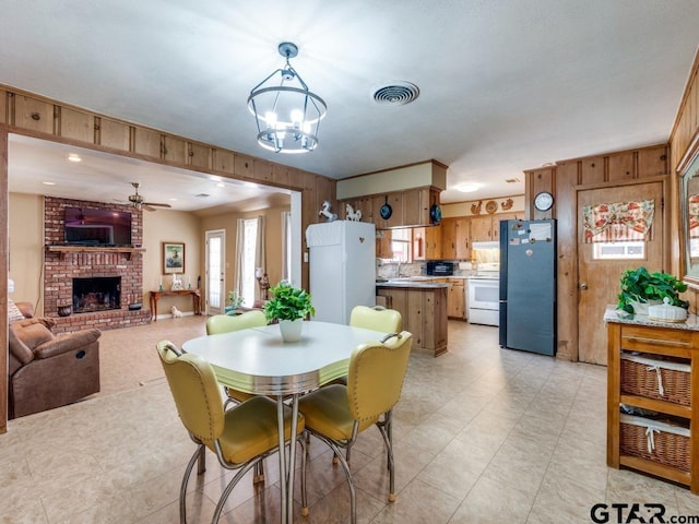
M279 52L286 63L252 88L248 109L254 115L262 147L275 153L307 153L318 145L318 127L328 106L288 62L298 55L298 47L283 41ZM277 74L279 83L274 79Z

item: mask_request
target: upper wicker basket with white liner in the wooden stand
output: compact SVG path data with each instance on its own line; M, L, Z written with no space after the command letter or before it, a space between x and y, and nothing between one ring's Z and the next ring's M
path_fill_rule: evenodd
M621 393L690 405L690 366L621 354Z

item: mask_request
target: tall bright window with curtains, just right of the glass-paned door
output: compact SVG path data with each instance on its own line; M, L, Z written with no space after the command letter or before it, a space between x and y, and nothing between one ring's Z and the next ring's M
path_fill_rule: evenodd
M264 217L238 218L236 239L237 275L236 288L244 305L252 307L260 299L256 269L266 272L264 263Z

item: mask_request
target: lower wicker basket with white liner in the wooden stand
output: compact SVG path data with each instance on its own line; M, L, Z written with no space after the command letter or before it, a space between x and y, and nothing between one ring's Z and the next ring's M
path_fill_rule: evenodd
M688 428L623 414L619 437L623 454L689 472Z

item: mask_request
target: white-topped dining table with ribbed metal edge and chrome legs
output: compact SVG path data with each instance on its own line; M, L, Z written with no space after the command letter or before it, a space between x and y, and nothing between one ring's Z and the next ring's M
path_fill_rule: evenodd
M301 338L284 342L279 324L203 335L182 344L182 350L203 357L220 384L276 398L281 522L294 520L296 445L284 440L285 402L291 401L292 432L296 434L298 398L304 393L347 374L353 350L388 333L329 322L305 321Z

